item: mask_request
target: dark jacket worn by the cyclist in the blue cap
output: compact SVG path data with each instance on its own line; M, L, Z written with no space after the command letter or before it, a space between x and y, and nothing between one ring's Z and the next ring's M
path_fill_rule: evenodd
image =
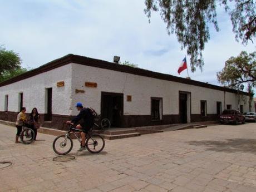
M93 126L93 115L88 108L83 108L80 113L72 120L73 124L77 124L78 121L83 120L80 124L85 129L90 129Z

